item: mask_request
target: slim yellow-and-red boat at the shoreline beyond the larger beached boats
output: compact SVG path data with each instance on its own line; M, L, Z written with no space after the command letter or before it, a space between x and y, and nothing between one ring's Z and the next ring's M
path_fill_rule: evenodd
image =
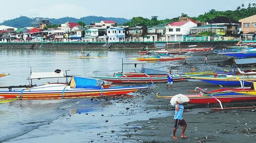
M135 60L138 60L138 61L147 61L147 62L150 62L150 61L153 61L153 62L156 62L156 61L175 61L175 60L183 60L183 59L186 59L188 58L189 56L177 56L177 57L160 57L160 58L156 58L156 57L144 57L144 58L136 58Z

